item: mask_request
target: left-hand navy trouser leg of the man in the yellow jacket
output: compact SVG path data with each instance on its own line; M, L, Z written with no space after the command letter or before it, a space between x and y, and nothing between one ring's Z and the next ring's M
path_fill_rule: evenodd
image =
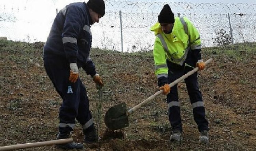
M171 83L181 77L182 70L170 69L168 71L168 83ZM172 129L179 129L182 131L180 103L177 90L177 84L171 88L170 93L167 95L168 115Z

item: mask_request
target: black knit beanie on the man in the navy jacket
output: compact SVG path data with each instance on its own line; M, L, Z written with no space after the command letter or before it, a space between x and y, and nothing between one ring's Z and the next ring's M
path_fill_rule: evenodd
M101 16L105 15L105 3L104 0L89 0L87 6L91 8L94 12L100 14Z

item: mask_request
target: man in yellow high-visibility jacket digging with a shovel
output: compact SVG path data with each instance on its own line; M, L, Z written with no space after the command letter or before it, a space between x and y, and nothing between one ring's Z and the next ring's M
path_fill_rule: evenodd
M201 40L197 29L185 17L174 17L168 4L163 6L158 23L151 27L155 33L154 61L158 86L167 95L169 121L172 126L171 141L182 141L182 123L177 84L170 91L169 83L199 67L204 69L201 59ZM208 121L202 94L199 90L197 73L185 79L193 108L193 115L200 132L200 143L209 143Z

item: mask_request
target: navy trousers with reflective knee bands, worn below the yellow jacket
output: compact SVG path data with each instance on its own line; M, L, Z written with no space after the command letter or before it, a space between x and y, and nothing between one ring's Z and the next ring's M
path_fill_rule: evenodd
M191 54L188 57L191 57ZM195 67L196 62L191 60L192 59L187 58L186 63L192 67ZM189 66L185 66L185 68L184 67L172 68L173 63L169 61L167 61L167 65L169 68L168 82L170 83L178 79L179 77L183 76L187 72L193 70L193 68ZM198 130L199 131L208 130L208 121L205 118L205 110L203 106L202 95L198 86L197 73L194 73L188 78L186 78L185 83L188 90L190 103L193 107L194 120L197 123ZM178 128L182 131L180 106L178 106L178 103L176 103L178 101L179 101L179 98L178 98L177 84L176 84L171 88L170 93L167 95L167 103L169 107L168 109L169 121L173 129Z

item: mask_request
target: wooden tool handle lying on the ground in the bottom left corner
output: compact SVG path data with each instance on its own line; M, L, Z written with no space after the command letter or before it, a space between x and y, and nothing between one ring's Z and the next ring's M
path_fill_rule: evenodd
M37 143L17 144L17 145L12 145L12 146L4 146L4 147L0 147L0 151L31 148L31 147L40 147L40 146L50 146L50 145L54 145L54 144L66 144L66 143L70 143L70 142L73 142L73 138L57 139L57 140L43 141L43 142L37 142Z

